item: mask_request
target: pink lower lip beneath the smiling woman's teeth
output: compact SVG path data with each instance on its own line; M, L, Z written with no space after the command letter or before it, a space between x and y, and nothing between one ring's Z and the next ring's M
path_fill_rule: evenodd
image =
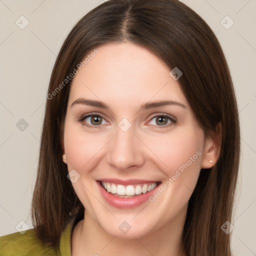
M159 184L157 184L157 186L150 190L147 193L141 193L139 195L136 195L134 197L128 197L128 198L124 198L124 197L118 197L115 196L109 192L107 192L102 186L101 186L101 181L96 181L98 186L99 186L99 190L103 196L103 198L112 206L116 207L116 208L134 208L140 204L142 204L143 202L145 202L146 200L148 200L148 198L153 195L156 191L156 189L158 189Z

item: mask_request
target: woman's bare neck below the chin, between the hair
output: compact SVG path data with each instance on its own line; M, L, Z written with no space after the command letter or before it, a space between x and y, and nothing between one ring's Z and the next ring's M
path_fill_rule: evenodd
M185 214L186 208L160 229L142 237L124 239L107 233L85 210L84 219L72 232L72 256L185 256L181 242Z

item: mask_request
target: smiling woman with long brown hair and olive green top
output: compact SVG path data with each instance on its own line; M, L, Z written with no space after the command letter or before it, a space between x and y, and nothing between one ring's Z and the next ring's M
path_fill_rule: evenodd
M234 89L177 0L109 0L71 30L47 93L33 229L3 254L231 255ZM230 230L227 230L230 229Z

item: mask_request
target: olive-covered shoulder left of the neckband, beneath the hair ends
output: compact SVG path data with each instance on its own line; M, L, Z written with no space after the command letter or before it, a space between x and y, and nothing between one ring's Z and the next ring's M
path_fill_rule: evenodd
M34 228L25 233L19 232L0 236L0 255L47 255L55 256L59 253L51 246L44 245L36 236Z

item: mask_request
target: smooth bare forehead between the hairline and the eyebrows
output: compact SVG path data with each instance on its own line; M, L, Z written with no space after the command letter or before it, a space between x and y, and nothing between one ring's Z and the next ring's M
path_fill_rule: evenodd
M77 69L70 100L84 96L128 105L153 98L187 104L178 81L169 75L168 66L148 49L133 43L107 43L97 50Z

